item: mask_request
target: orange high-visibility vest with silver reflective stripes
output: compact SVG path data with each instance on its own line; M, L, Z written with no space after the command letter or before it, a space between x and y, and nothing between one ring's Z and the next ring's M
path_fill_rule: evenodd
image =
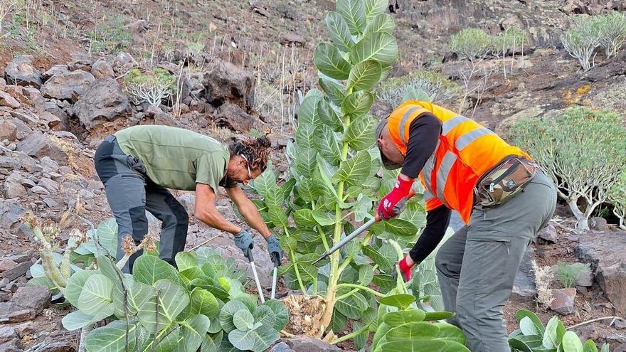
M426 211L445 205L457 210L470 223L474 206L474 186L486 171L506 156L531 157L516 146L472 119L432 104L408 100L393 110L387 128L400 152L406 155L410 124L420 114L430 112L442 122L442 133L435 152L422 171Z

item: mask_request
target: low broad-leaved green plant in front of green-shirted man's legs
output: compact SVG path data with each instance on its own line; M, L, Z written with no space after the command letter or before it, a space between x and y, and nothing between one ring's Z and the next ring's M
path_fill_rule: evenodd
M108 323L85 336L87 352L260 352L279 338L287 309L276 300L258 306L245 293L245 272L235 260L201 247L179 252L176 265L144 254L131 275L110 257L97 257L97 269L79 270L68 281L65 298L78 310L63 326Z

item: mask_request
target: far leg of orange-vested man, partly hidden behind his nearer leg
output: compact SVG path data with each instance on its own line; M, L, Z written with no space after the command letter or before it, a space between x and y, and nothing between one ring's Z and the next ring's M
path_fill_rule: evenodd
M467 226L460 228L437 251L435 267L441 289L441 298L446 311L455 311L457 304L457 288L463 263L463 252L467 240ZM450 324L460 327L456 317L448 319Z

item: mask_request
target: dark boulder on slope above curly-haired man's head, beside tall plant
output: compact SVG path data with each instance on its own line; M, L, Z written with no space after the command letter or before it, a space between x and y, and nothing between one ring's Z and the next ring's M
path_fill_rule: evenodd
M204 75L207 102L221 106L230 102L245 112L254 106L254 76L249 70L218 60Z

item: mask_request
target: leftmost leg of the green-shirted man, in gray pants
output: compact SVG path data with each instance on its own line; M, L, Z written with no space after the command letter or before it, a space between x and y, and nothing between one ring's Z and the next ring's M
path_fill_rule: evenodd
M138 244L148 233L145 178L128 167L126 158L115 139L110 137L102 142L94 156L96 172L105 185L107 201L117 222L117 260L124 256L121 244L126 235L132 235ZM131 272L138 256L132 255L122 272Z

